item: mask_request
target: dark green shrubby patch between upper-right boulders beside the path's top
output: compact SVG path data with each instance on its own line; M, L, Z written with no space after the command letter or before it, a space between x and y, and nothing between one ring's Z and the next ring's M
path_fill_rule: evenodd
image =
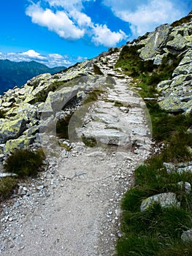
M142 97L155 97L157 84L161 80L172 78L172 72L182 56L169 53L164 56L161 65L157 66L151 60L143 61L139 58L138 50L142 47L143 45L126 45L115 67L121 67L127 75L134 78L134 83L142 88L139 92Z

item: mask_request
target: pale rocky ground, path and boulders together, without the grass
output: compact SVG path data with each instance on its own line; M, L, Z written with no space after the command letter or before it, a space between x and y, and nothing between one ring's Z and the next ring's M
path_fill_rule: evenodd
M191 113L188 17L126 45L142 45L140 58L156 65L168 53L180 55L172 79L157 84L158 104L170 113ZM42 147L47 157L45 171L18 184L1 206L1 255L114 255L120 200L153 146L140 89L115 69L122 48L39 75L0 97L1 170L15 149ZM98 99L83 105L90 91L99 91ZM58 138L57 122L70 115L69 140Z

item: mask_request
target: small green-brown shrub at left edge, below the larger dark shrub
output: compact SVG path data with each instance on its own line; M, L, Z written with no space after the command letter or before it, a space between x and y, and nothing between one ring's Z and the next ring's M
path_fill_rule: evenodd
M17 186L17 181L13 177L4 177L0 179L0 199L7 199L12 195L13 189Z

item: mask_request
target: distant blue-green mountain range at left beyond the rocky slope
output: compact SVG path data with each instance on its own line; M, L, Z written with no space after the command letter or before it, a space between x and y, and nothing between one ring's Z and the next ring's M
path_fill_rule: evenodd
M27 80L34 78L34 76L43 73L53 75L63 69L66 69L66 67L50 68L37 61L14 62L8 59L0 59L0 94L3 94L8 89L12 89L14 86L23 86Z

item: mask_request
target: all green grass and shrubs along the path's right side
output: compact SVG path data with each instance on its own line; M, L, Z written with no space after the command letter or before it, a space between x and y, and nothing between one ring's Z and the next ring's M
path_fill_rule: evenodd
M168 55L158 67L149 61L139 59L140 46L123 49L117 67L134 78L142 87L142 97L155 97L155 86L161 80L172 77L180 57ZM177 165L191 161L190 148L192 116L173 115L161 110L155 101L147 102L153 124L153 138L161 146L160 153L154 154L135 170L135 186L128 190L122 200L122 238L117 243L117 255L163 256L192 255L192 244L181 239L183 231L191 229L192 192L187 192L185 182L192 184L191 172L170 173L164 162ZM140 210L142 200L162 192L174 192L180 207L162 208L159 203Z

